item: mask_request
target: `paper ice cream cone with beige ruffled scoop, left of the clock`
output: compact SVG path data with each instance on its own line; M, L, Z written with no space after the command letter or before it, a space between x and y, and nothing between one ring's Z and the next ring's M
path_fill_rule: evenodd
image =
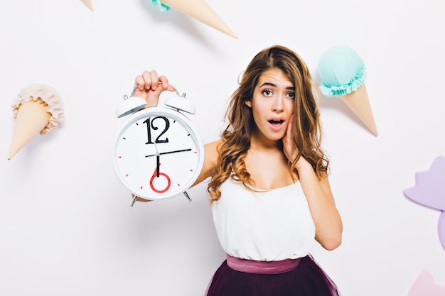
M9 148L9 160L38 133L44 135L56 128L63 116L60 95L45 84L31 84L22 89L12 108L16 126Z

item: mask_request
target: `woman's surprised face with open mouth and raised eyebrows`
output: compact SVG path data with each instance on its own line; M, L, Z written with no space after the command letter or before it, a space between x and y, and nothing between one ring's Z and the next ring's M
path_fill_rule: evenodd
M257 125L257 136L278 141L286 134L289 118L294 113L295 87L279 69L264 71L259 77L251 101L247 106Z

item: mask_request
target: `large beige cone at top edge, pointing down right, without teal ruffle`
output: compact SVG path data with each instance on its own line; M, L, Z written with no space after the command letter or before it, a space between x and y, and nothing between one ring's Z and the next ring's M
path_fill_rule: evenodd
M238 38L203 0L161 0L161 3L235 39Z

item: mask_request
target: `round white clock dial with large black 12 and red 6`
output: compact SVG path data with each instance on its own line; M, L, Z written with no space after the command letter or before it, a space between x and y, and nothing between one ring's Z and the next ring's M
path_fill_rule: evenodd
M160 107L127 119L114 147L119 179L144 199L165 199L186 191L198 178L203 161L203 143L191 121Z

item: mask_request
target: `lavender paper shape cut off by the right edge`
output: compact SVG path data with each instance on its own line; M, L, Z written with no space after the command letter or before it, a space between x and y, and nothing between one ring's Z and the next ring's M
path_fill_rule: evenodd
M434 159L429 170L416 172L416 185L403 193L413 202L441 211L437 232L445 248L445 158L439 156Z

